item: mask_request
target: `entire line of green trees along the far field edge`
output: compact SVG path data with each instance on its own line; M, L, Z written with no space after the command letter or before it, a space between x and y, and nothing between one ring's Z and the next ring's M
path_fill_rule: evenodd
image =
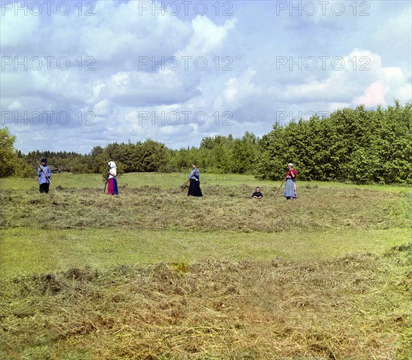
M34 176L36 160L46 157L53 171L105 173L114 160L119 173L186 171L196 162L202 171L253 174L258 179L282 180L294 163L300 180L381 184L412 182L412 105L376 110L336 110L329 117L273 125L262 136L246 132L233 136L207 136L199 147L169 149L151 139L137 143L96 146L89 154L29 152L14 149L15 136L1 131L0 176ZM11 144L11 146L10 146Z

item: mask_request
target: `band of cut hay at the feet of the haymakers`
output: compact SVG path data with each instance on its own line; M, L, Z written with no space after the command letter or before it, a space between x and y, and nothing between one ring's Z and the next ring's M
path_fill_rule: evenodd
M127 188L119 197L98 189L65 189L49 195L1 192L1 227L135 228L148 230L232 230L273 232L290 228L404 228L409 225L407 193L367 189L302 188L286 202L267 191L251 198L250 187L205 187L203 198L155 187Z

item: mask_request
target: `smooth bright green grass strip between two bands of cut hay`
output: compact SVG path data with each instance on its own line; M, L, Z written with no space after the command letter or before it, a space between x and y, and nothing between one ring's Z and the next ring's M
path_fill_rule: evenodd
M383 254L407 243L409 230L293 230L290 232L183 232L180 230L3 230L0 273L27 275L87 265L103 270L119 264L242 261L269 263L330 260L354 252ZM287 240L286 240L287 239Z

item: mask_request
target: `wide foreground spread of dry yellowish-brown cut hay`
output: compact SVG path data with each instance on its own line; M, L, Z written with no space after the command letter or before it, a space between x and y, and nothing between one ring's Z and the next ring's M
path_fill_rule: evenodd
M10 276L0 290L0 357L409 360L405 246L329 261Z

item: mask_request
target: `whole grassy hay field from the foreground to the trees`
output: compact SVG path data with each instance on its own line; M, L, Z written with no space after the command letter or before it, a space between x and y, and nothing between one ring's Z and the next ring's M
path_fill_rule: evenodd
M412 359L410 188L185 176L1 179L0 359Z

